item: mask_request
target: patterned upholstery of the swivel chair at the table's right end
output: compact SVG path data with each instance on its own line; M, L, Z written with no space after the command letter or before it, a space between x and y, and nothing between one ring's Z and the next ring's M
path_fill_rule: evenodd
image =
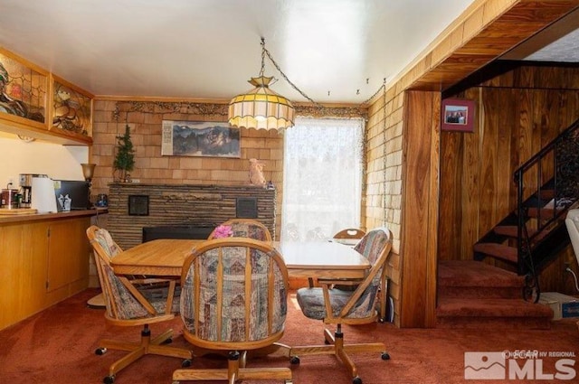
M356 245L356 250L367 258L375 266L375 262L390 241L389 232L383 229L373 229L368 232ZM366 287L364 293L357 300L346 318L364 318L374 314L378 289L380 287L380 277L382 268L375 274L372 282ZM341 290L338 288L329 289L330 306L334 316L338 316L342 308L356 291ZM323 320L327 317L324 303L323 288L311 287L300 288L297 292L299 307L306 317L310 319Z

